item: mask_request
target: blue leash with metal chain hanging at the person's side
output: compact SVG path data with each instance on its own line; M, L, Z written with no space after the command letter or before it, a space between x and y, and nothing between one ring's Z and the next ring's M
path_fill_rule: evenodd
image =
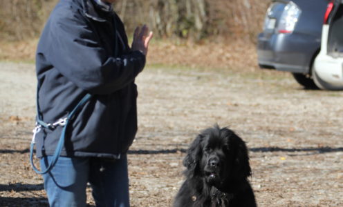
M41 115L39 113L38 92L37 92L37 126L33 130L33 140L32 140L31 145L30 145L30 163L31 163L33 170L35 170L35 172L37 172L40 175L43 175L43 174L50 172L50 170L55 166L55 164L57 163L57 160L59 158L59 155L61 155L62 148L64 146L64 139L66 137L66 128L68 127L69 121L71 119L73 119L75 112L77 112L77 110L79 110L82 106L84 106L84 104L87 101L89 101L89 99L91 99L91 97L92 97L92 95L87 93L82 98L82 100L79 103L77 103L77 106L75 106L75 108L68 114L68 116L65 119L59 119L59 121L55 122L54 124L46 124L44 121L41 120ZM35 148L35 136L41 130L41 128L55 128L55 126L58 126L58 125L63 126L63 129L62 129L62 134L59 137L57 147L56 147L55 152L53 154L53 158L51 159L49 166L45 170L40 171L35 167L35 164L33 164L33 148Z

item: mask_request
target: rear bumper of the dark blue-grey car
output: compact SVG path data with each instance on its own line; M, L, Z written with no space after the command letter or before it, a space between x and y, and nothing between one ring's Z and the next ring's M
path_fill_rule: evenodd
M304 34L259 34L257 59L261 68L308 73L320 41Z

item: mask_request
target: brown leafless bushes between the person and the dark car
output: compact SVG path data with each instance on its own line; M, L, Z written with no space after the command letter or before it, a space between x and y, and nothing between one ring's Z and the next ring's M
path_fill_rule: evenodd
M261 30L268 0L120 0L115 10L127 30L149 23L158 37L199 40L240 37L254 41Z

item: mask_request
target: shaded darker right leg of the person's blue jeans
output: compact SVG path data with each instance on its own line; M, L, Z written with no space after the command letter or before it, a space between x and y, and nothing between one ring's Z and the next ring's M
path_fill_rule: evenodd
M129 207L127 155L120 159L91 159L89 182L98 207Z

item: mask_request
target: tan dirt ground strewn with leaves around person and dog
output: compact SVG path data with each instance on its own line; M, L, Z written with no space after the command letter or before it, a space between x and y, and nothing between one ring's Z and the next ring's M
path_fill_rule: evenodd
M34 70L0 63L0 206L48 206L28 162ZM230 126L250 148L259 206L343 206L343 92L304 90L288 73L258 69L148 67L137 83L131 206L171 206L187 146L216 123Z

